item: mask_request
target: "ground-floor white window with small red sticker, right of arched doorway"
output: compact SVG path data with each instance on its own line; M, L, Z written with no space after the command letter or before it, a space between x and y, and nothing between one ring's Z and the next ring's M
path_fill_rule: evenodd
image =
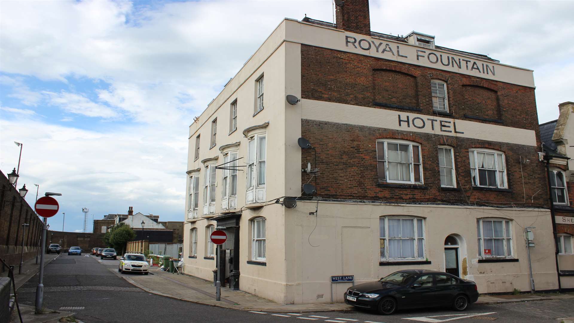
M510 220L477 220L476 233L478 235L479 256L506 258L511 258L513 256Z

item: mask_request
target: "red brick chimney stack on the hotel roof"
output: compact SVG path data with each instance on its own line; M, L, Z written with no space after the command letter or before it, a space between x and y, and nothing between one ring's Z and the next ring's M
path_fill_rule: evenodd
M369 0L344 0L343 5L336 8L337 29L371 36Z

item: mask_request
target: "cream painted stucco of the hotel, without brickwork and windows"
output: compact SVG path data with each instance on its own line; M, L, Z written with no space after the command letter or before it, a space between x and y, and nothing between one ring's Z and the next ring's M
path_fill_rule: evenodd
M301 98L301 44L381 57L381 54L374 50L364 51L360 48L347 47L346 35L358 39L366 37L295 20L282 21L218 97L191 124L188 147L188 191L184 210L184 272L207 280L213 278L215 260L210 259L208 255L207 236L209 226L216 225L216 222L211 218L222 213L241 212L239 224L241 290L280 303L312 303L331 302L329 294L332 287L333 301L341 302L344 290L350 283L331 286L331 275L355 275L356 283L359 283L381 278L396 270L410 268L398 265L379 266L379 218L408 215L425 219L425 260L430 264L424 269L444 270L444 241L449 234L455 234L460 242L461 277L475 280L480 293L528 290L529 271L522 228L531 224L535 218L547 218L549 214L547 209L516 207L500 210L495 207L477 206L413 206L320 201L319 213L315 216L309 214L315 212L317 207L315 201L299 201L294 209L285 209L284 206L273 203L278 198L301 195L301 148L297 145L297 139L301 137L302 119L397 129L396 121L385 121L390 120L390 117L396 120L396 111L305 99L296 105L289 105L286 102L285 96L288 94ZM371 39L376 40L374 37ZM384 41L392 43L389 40ZM404 43L394 45L400 45L401 53L411 57L412 61L409 63L417 64L412 55L416 56L415 51L420 48ZM472 59L479 60L476 57ZM430 63L420 64L425 66ZM488 64L495 66L498 76L495 78L488 75L488 78L534 86L532 71L492 61L488 61ZM457 72L476 74L463 70ZM262 75L265 78L265 108L254 114L257 102L256 81ZM230 106L235 101L238 102L238 126L237 130L229 133ZM350 109L354 109L356 113L348 113ZM215 119L218 127L216 145L210 148L211 123ZM485 125L472 121L452 119L451 121L464 125L465 137L484 139L486 127L490 130L489 136L492 136L492 139L505 138L509 143L536 146L536 134L532 130ZM268 125L265 125L266 123ZM257 125L261 125L261 128L243 134L244 129ZM198 134L200 134L200 149L199 157L196 158ZM214 207L212 209L208 207L208 212L204 213L205 167L223 164L223 153L228 152L237 152L238 157L243 157L239 160L239 165L245 166L248 141L251 136L259 134L266 136L264 201L246 203L246 171L238 171L236 207L232 210L223 210L221 203L223 173L222 170L217 170ZM235 143L239 144L232 145ZM193 212L189 213L188 208L190 178L194 175L199 176L200 183L197 218L193 218ZM266 259L262 262L265 266L249 263L254 260L250 221L258 217L266 219ZM489 217L513 221L511 244L515 257L519 259L518 262L497 263L496 266L478 263L476 220ZM552 236L549 221L539 221L536 226L534 233L537 237ZM193 229L197 230L195 247L192 247L195 243L191 237ZM195 255L191 255L192 248L195 249ZM557 274L556 267L553 267L552 251L552 240L543 239L537 240L537 247L532 250L534 278L538 290L556 288Z

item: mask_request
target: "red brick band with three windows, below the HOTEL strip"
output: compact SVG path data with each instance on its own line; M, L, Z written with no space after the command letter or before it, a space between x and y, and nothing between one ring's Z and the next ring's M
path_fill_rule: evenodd
M479 204L507 204L517 206L549 206L545 165L538 162L536 147L495 143L491 141L435 134L398 132L350 124L315 120L302 120L301 134L311 141L317 151L317 195L323 198L368 199L397 202L444 202ZM424 188L382 186L377 175L376 140L396 138L421 144ZM457 187L460 191L440 188L439 157L437 145L453 146ZM472 187L469 148L492 148L505 153L507 180L510 191L490 191ZM302 150L301 167L313 163L311 149ZM519 156L530 163L519 163ZM524 187L522 186L524 174ZM303 182L308 175L302 174ZM534 196L534 202L532 197ZM525 193L524 193L525 192Z

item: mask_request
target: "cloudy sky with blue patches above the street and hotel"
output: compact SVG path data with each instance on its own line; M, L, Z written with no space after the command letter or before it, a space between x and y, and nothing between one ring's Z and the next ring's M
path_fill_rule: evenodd
M370 1L371 29L534 70L540 122L574 101L572 1ZM3 1L0 170L82 207L184 218L188 126L284 17L332 21L331 0ZM62 214L49 221L62 225Z

